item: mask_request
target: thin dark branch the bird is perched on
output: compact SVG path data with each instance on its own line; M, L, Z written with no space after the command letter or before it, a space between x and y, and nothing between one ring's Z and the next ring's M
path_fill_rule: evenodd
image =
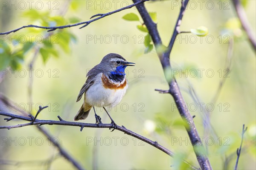
M94 128L113 128L112 124L92 124L92 123L82 123L82 122L68 122L65 121L63 119L61 119L60 116L58 116L58 121L57 120L40 120L40 119L35 119L34 122L32 122L32 118L31 117L25 117L25 116L19 116L19 115L15 115L12 113L5 113L3 111L0 111L0 115L2 116L8 116L10 118L5 118L5 120L9 120L9 119L20 119L20 120L25 120L25 121L29 121L29 123L24 123L24 124L18 124L18 125L12 125L12 126L0 126L0 129L12 129L12 128L17 128L17 127L24 127L24 126L30 126L30 125L63 125L63 126L77 126L80 127L80 131L83 130L84 127L94 127ZM175 154L163 147L162 145L158 144L157 141L152 141L144 136L141 136L137 133L134 133L131 130L126 129L124 126L116 126L116 130L122 131L125 134L128 134L130 136L133 136L137 139L142 140L143 142L146 142L154 147L156 147L157 149L163 151L164 153L168 154L169 156L174 156ZM198 170L198 168L192 166L191 164L189 164L189 162L185 161L184 162L186 164L189 165L189 167L191 167L193 170Z

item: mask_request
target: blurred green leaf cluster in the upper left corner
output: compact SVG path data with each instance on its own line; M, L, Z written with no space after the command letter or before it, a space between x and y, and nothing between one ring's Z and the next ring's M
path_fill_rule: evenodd
M51 16L49 12L35 9L24 11L22 17L28 18L29 23L40 23L41 26L61 26L79 21L75 17L64 19L62 16ZM47 32L44 29L28 28L7 37L7 40L3 37L0 39L0 69L20 69L30 55L40 55L46 63L50 57L59 57L58 48L69 53L70 43L76 42L75 35L67 29Z

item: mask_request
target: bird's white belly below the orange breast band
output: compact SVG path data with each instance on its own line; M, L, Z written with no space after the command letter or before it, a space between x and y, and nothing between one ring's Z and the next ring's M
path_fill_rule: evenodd
M125 95L128 83L124 88L111 89L105 88L101 79L94 82L93 85L85 93L85 102L96 107L111 107L118 104ZM111 105L111 106L110 106Z

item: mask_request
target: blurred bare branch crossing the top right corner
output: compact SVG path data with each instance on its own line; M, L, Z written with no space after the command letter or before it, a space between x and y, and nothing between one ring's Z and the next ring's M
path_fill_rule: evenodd
M242 27L244 28L244 31L246 32L250 40L250 43L254 48L254 51L256 51L256 38L255 38L255 35L253 34L253 30L250 28L250 23L247 20L244 8L242 7L240 0L232 0L232 1L236 8L236 13L237 13L237 16L239 17Z

